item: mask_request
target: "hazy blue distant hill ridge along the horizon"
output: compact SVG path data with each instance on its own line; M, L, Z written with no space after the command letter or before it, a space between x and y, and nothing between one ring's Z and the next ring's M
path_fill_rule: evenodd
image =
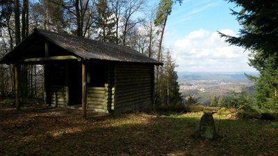
M245 73L259 76L257 72L178 72L179 81L183 80L247 80Z

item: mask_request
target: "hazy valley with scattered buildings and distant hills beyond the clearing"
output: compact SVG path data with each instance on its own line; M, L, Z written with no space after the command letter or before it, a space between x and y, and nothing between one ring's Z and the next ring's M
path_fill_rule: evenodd
M183 98L193 96L200 104L209 105L213 96L222 98L231 92L247 94L254 91L254 83L247 76L256 72L178 72L179 89Z

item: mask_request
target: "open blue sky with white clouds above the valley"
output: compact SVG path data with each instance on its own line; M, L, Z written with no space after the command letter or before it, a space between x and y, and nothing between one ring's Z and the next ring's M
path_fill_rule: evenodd
M230 8L239 9L224 0L183 0L173 7L163 44L179 65L177 71L255 71L247 64L248 52L229 46L217 33L238 34Z

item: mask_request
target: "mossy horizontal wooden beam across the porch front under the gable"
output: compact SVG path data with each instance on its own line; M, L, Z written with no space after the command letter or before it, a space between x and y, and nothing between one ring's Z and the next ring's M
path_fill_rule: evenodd
M81 61L81 58L77 58L74 55L58 55L58 56L50 56L47 58L26 58L24 62L42 62L49 60L78 60Z

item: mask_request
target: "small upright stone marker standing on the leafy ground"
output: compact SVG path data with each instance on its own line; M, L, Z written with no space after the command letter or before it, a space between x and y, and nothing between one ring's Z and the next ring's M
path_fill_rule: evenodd
M199 123L199 132L201 137L205 139L213 140L216 138L216 130L212 113L204 113Z

